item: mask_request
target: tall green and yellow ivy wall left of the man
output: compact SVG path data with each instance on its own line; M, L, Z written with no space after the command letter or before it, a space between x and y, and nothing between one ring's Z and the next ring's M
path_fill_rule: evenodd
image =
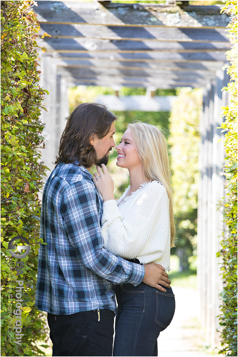
M1 356L44 355L36 341L46 338L43 314L34 307L42 241L38 192L45 170L39 163L44 145L39 116L46 91L39 86L39 23L31 6L33 1L1 1ZM31 245L23 259L8 250L16 236ZM16 287L22 282L20 321L14 311ZM16 336L14 326L20 322L22 336Z

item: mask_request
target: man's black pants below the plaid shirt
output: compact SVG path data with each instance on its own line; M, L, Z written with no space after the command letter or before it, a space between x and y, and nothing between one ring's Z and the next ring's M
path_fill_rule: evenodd
M100 315L100 321L99 320ZM114 313L92 310L72 315L48 313L52 356L111 356Z

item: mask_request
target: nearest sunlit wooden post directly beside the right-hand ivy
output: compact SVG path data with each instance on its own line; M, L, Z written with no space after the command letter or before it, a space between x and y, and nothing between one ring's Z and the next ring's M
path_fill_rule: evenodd
M212 172L212 277L211 277L211 335L210 343L211 347L215 348L219 345L219 333L217 329L219 328L219 318L217 317L220 313L219 305L219 293L222 290L222 281L220 278L220 260L216 257L216 253L220 249L220 240L223 230L223 215L222 212L218 210L219 202L222 203L222 198L224 196L224 175L223 164L224 164L224 147L222 141L224 134L222 129L218 129L223 122L221 106L227 105L227 95L222 92L222 88L227 86L228 75L222 71L216 71L216 84L215 84L215 95L214 95L214 116L213 116L213 172ZM219 142L218 142L219 141Z

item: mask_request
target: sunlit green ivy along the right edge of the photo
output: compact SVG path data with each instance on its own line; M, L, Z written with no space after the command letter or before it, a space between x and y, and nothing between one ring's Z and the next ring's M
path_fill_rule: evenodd
M230 65L227 72L231 82L223 90L228 91L229 107L222 107L225 121L222 124L225 148L224 173L227 179L225 204L223 210L225 231L221 250L217 256L222 258L222 279L224 283L221 296L220 336L225 356L237 356L237 1L227 1L222 11L231 16L228 24L232 49L227 52Z

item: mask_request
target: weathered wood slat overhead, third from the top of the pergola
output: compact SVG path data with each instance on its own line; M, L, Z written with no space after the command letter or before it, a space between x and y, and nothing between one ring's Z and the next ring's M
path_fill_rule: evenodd
M227 51L227 42L159 42L159 41L126 41L101 39L56 39L45 37L38 41L47 51Z

